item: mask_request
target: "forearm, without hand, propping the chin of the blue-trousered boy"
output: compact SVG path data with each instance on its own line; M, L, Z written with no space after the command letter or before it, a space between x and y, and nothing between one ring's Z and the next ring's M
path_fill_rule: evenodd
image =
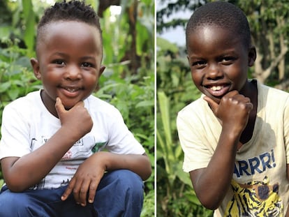
M66 131L60 128L42 147L15 162L6 162L5 158L1 160L2 167L6 168L3 174L10 190L22 191L34 186L52 170L76 141L64 136L69 135ZM3 166L6 163L10 165Z

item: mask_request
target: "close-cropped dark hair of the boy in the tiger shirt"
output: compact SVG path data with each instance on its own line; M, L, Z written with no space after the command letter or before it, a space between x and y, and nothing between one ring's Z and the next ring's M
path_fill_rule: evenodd
M186 25L186 44L188 38L198 27L212 25L228 29L239 36L244 45L251 46L251 32L249 22L244 12L232 3L225 1L214 1L200 6Z

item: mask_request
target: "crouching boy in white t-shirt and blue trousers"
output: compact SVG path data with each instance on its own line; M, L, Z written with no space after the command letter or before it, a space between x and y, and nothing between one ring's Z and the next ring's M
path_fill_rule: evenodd
M31 59L43 89L3 111L0 216L140 216L151 165L119 111L91 96L102 46L93 8L45 10Z

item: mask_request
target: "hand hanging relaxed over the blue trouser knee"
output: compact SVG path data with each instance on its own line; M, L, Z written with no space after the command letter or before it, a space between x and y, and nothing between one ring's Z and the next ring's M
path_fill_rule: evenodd
M96 154L87 158L78 167L64 194L61 196L61 200L66 200L68 195L73 193L76 203L84 207L87 205L88 193L88 202L93 203L96 189L105 172L105 165L102 161L99 160Z

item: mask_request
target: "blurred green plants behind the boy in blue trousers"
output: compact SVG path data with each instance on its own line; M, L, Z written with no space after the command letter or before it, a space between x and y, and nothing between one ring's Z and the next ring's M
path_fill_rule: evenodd
M120 110L149 155L153 173L144 182L142 216L154 216L154 1L86 2L97 11L103 29L106 69L94 94ZM10 101L41 88L29 59L35 57L37 23L53 3L0 1L0 118Z

